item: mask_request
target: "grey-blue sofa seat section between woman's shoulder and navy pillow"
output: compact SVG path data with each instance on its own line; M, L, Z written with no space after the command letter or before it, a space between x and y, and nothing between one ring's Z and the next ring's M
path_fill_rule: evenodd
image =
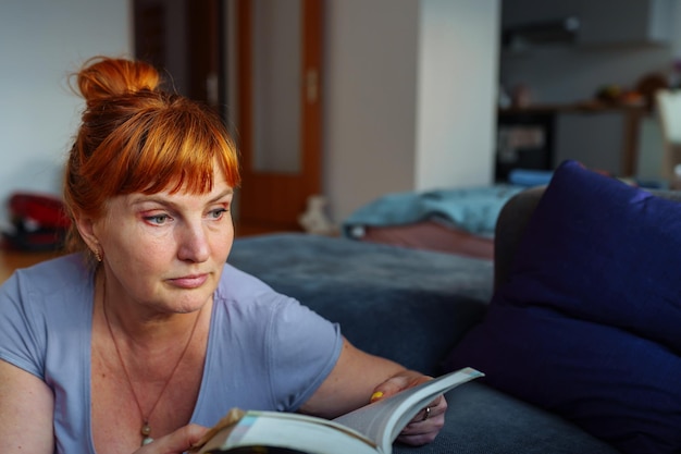
M339 237L240 238L228 262L340 323L366 352L429 375L492 294L490 260Z

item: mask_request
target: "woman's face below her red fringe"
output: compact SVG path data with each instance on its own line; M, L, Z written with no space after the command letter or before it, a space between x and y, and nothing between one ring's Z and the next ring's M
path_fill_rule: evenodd
M92 224L103 251L107 303L151 314L190 312L208 303L234 241L233 189L218 171L208 194L117 196Z

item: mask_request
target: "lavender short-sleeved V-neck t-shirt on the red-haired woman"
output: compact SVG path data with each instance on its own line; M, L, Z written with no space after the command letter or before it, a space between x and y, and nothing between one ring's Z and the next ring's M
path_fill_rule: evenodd
M95 453L90 431L94 275L72 255L15 272L0 287L0 359L54 392L55 453ZM337 324L226 265L215 291L193 422L236 406L296 410L331 372Z

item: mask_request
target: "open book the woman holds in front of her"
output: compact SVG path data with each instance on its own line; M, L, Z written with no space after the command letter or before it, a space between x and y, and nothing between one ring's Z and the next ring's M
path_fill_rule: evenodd
M336 419L233 409L198 443L199 454L391 454L409 421L437 395L484 373L465 368Z

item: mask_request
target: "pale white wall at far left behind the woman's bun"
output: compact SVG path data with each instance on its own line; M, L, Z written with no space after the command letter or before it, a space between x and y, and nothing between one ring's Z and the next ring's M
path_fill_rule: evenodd
M61 192L82 107L67 75L95 54L132 54L131 19L128 0L0 2L0 223L12 192Z

